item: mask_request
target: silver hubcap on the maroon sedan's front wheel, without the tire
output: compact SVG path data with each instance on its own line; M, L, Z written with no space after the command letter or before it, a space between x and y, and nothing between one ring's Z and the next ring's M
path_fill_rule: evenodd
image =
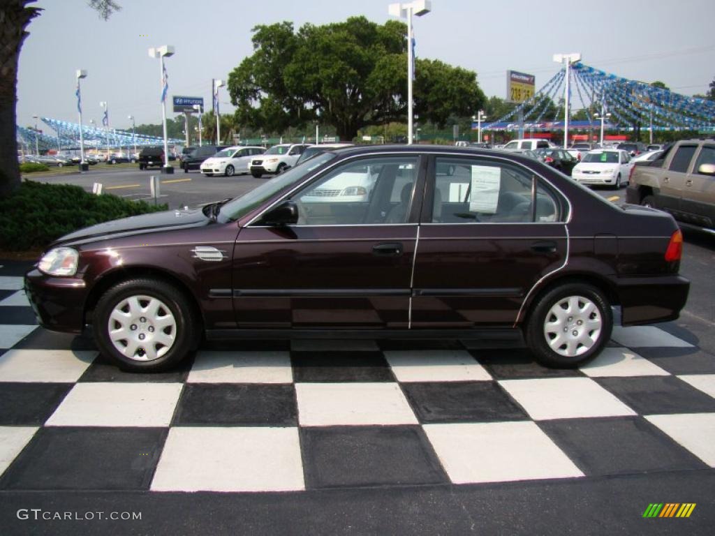
M117 352L134 361L154 361L169 352L177 323L169 307L152 296L131 296L119 302L107 325Z

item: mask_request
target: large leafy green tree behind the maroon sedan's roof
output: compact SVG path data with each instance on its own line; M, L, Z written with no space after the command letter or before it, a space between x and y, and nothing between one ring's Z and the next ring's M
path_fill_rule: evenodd
M406 27L363 16L297 32L290 22L256 26L254 54L229 75L241 126L266 134L303 128L318 117L353 139L368 125L404 120ZM416 65L415 112L444 124L449 114L473 114L484 101L476 75L440 61ZM454 86L450 86L454 84Z

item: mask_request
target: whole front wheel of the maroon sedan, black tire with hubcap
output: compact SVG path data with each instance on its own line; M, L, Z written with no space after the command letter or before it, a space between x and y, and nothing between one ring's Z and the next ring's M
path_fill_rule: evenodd
M160 279L129 279L109 289L94 311L94 339L119 368L155 372L187 357L199 320L187 298Z

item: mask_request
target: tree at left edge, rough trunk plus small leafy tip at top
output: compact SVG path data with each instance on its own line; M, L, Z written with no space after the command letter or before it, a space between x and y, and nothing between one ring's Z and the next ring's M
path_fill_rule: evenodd
M20 185L17 163L17 65L22 44L29 32L30 21L39 16L34 0L2 0L0 2L0 197L7 197ZM89 0L89 6L102 19L118 11L112 0Z

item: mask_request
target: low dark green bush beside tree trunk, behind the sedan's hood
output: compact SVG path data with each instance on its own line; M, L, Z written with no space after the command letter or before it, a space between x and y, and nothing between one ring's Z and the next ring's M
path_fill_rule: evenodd
M0 249L43 249L64 234L110 219L166 210L143 201L94 195L79 186L24 181L0 199Z

